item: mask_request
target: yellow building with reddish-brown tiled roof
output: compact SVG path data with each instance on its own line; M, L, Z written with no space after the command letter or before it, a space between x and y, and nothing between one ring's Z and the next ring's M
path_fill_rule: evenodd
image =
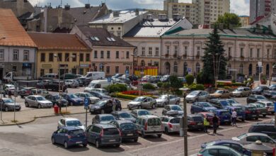
M28 33L38 46L37 77L47 73L86 74L91 69L91 49L75 34Z

